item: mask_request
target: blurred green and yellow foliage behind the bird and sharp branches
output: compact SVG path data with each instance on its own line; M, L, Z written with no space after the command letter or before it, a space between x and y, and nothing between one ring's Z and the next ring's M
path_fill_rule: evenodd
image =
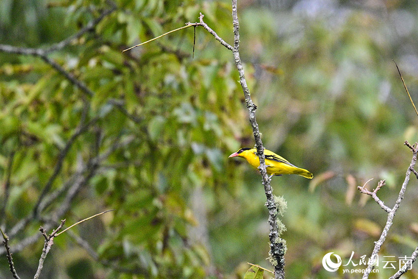
M408 168L403 142L417 141L418 118L391 60L418 100L417 8L239 1L263 142L314 174L272 179L288 202L287 278L341 278L322 257L346 263L354 251L357 263L381 233L386 214L356 187L386 179L379 194L392 205ZM44 278L240 278L246 262L270 267L260 175L228 159L254 146L231 53L199 27L194 59L192 28L121 52L199 12L233 42L230 1L0 2L0 43L44 51L0 51L0 225L22 278L36 271L40 225L107 209L55 240ZM412 184L382 256L416 248L417 197Z

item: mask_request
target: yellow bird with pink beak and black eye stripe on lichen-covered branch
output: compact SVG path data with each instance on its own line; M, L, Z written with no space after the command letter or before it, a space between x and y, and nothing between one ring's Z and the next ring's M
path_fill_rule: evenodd
M236 156L245 158L254 168L258 168L260 166L260 159L258 158L257 150L255 148L241 148L236 153L229 155L228 158ZM297 174L309 179L313 178L313 175L308 170L298 168L274 152L264 149L264 156L266 158L267 174L271 174L270 178L273 175L280 176L282 174Z

